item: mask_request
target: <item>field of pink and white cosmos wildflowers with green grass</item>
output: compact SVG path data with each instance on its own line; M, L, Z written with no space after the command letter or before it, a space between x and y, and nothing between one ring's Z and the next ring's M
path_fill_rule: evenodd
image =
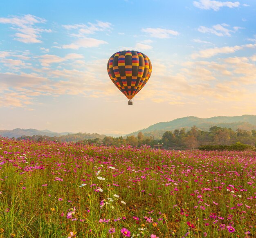
M0 237L256 237L256 152L0 137Z

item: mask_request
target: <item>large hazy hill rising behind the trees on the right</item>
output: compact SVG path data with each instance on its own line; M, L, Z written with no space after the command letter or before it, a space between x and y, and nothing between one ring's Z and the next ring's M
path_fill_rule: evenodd
M148 128L132 132L126 136L137 135L138 132L142 132L146 136L152 135L154 139L160 139L162 134L167 131L173 131L175 129L185 128L189 130L191 126L197 126L199 130L209 130L212 126L220 126L237 130L256 130L256 115L243 115L235 117L182 117L173 121L159 122Z

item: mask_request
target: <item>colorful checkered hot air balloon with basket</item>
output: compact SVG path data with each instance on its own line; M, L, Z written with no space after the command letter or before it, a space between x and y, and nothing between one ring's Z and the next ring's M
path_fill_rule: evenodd
M118 51L108 60L108 75L115 86L131 99L148 82L152 65L149 58L139 51Z

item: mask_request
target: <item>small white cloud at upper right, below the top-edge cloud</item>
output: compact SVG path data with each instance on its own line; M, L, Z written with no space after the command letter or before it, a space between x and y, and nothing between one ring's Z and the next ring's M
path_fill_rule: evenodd
M206 26L200 26L198 28L198 31L200 31L202 33L211 33L211 34L218 35L218 36L225 36L225 35L226 36L231 36L231 34L230 34L231 32L236 32L239 29L243 29L243 27L234 26L233 27L234 30L231 30L231 29L227 28L228 26L229 25L227 25L225 23L214 25L211 28L206 27Z

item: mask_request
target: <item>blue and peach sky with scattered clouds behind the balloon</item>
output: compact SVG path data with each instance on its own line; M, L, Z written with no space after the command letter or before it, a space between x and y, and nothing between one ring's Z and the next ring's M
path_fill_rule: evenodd
M256 115L255 16L255 0L1 0L0 130ZM152 63L132 106L107 73L121 50Z

